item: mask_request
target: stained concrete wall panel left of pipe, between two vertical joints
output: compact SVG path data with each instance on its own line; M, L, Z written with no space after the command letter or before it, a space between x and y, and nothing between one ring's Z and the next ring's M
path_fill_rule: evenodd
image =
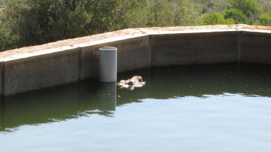
M79 48L5 61L5 95L75 82L79 75Z

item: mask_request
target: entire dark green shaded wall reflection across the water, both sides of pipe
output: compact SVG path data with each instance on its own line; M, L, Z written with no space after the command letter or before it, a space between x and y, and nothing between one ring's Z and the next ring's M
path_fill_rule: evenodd
M133 91L116 89L116 83L87 80L8 96L0 104L0 127L48 123L93 113L112 116L116 104L148 98L202 97L223 92L271 97L269 69L270 66L242 64L240 67L237 64L159 67L118 75L118 81L130 79L135 74L142 76L146 86Z

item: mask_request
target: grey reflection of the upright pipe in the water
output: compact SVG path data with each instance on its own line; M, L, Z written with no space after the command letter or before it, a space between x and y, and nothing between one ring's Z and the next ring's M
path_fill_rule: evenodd
M99 110L115 111L116 109L116 82L100 82Z

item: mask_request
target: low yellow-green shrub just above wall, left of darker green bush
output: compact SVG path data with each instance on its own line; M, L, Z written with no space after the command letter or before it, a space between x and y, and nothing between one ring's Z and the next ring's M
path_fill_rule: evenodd
M202 25L234 24L233 18L226 20L223 15L218 13L205 14L201 21Z

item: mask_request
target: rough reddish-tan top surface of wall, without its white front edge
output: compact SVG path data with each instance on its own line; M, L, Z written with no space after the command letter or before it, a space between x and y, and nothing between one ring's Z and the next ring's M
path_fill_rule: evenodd
M253 26L253 25L245 25L245 24L235 24L235 25L204 25L204 26L175 26L175 27L151 27L151 28L136 28L136 29L123 29L114 32L107 32L97 35L90 35L86 37L79 37L74 39L61 40L56 42L51 42L43 45L29 46L23 47L14 50L8 50L5 52L0 52L0 60L5 57L14 57L20 54L38 52L45 49L54 49L64 46L73 46L81 43L94 42L109 38L116 38L120 36L131 36L133 34L143 33L143 34L154 34L154 33L180 33L184 32L202 32L203 30L208 30L209 32L214 31L223 31L223 30L243 30L243 29L252 29L252 30L264 30L266 32L271 31L271 26Z

